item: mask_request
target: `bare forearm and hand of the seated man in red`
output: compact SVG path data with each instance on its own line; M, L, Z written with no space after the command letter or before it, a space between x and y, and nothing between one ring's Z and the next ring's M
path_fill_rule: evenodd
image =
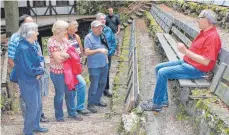
M187 57L189 57L197 63L200 63L204 66L207 66L210 63L209 59L206 59L205 57L188 50L183 43L178 43L177 48L181 53L185 54Z

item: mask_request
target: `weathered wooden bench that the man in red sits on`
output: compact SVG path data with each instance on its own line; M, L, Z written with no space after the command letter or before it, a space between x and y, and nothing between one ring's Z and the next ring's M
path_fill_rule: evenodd
M179 59L183 59L184 54L180 53L177 49L177 42L183 42L187 47L190 47L191 41L193 38L195 38L199 31L195 27L192 27L192 22L185 22L176 18L171 19L171 15L165 13L160 8L158 8L156 5L153 5L151 8L151 14L155 18L155 20L158 22L158 24L163 29L163 23L166 24L166 20L168 23L168 20L173 20L171 27L169 27L169 30L164 30L166 33L156 33L157 41L159 47L161 47L164 53L164 57L166 57L169 61L176 61ZM169 19L170 18L170 19ZM163 21L164 20L164 21ZM169 23L168 23L169 24ZM167 24L166 24L167 25ZM170 25L167 25L170 26ZM171 33L171 34L169 34ZM173 36L171 36L173 35ZM212 81L209 81L209 76L205 76L201 79L178 79L178 83L180 88L182 88L182 91L186 94L182 94L181 101L186 102L188 100L190 89L194 88L210 88L212 92L214 92L216 95L220 95L223 93L226 93L229 97L229 88L224 87L224 90L217 90L219 87L228 86L229 85L229 77L225 76L224 74L229 75L229 68L227 68L229 65L229 52L221 49L221 52L219 54L217 64L215 68L212 70L212 73L214 74L214 78ZM222 77L223 76L223 77ZM223 80L223 81L222 81ZM220 83L220 81L222 81ZM219 92L220 91L220 92ZM227 94L228 93L228 94ZM219 96L220 97L220 96ZM223 97L221 95L221 97ZM229 100L226 99L226 97L223 97L222 99L224 102L228 102ZM229 99L229 98L228 98ZM225 101L226 100L226 101Z

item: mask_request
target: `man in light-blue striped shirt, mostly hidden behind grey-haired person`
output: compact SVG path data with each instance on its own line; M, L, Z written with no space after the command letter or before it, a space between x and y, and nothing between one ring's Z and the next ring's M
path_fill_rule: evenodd
M24 14L19 18L19 27L23 23L30 23L30 22L33 22L33 18L29 15ZM14 56L15 56L15 52L17 50L19 41L21 41L21 37L19 36L18 32L14 33L9 40L9 43L8 43L8 63L10 65L10 68L14 67ZM37 41L34 44L38 49L38 55L41 56L41 65L44 66L44 60L42 60L43 56L42 56L42 52L41 52L41 47ZM20 97L20 107L21 107L22 115L24 116L26 108L25 108L25 103L21 97ZM42 112L41 113L41 122L47 122L48 119L44 116L44 113L42 110L41 110L41 112Z

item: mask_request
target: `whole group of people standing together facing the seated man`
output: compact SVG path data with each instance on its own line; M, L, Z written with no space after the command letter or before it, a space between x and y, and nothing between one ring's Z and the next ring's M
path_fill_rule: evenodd
M48 132L40 122L47 122L42 113L42 77L45 62L38 43L38 25L29 15L19 19L19 30L14 33L8 44L8 56L12 71L10 80L19 85L20 104L24 116L24 134ZM96 113L95 106L106 107L101 101L109 92L109 71L111 58L120 53L118 34L120 20L109 8L109 14L98 13L91 23L91 29L81 43L78 31L79 24L73 20L56 21L52 26L53 35L48 39L50 56L50 78L54 84L54 110L57 122L64 122L63 100L67 106L68 117L82 121L81 115ZM86 82L82 77L82 56L87 56L90 87L88 105L85 106Z

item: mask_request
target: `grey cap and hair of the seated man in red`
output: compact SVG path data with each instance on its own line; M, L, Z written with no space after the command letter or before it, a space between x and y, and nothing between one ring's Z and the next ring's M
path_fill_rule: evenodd
M199 14L199 17L207 18L211 24L217 24L217 15L215 12L213 12L210 9L202 10L201 13Z

